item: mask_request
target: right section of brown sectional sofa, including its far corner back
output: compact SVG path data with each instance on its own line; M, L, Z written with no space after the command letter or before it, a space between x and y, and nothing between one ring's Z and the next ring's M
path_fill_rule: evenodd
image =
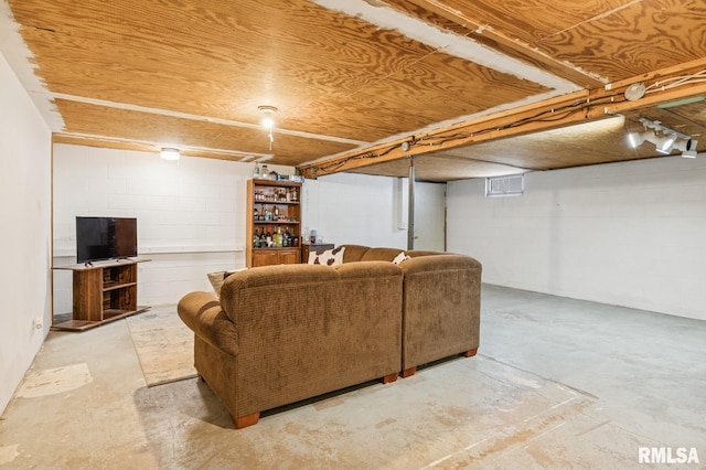
M343 263L392 261L398 248L341 245ZM403 270L402 375L479 345L482 266L474 258L441 252L405 250Z

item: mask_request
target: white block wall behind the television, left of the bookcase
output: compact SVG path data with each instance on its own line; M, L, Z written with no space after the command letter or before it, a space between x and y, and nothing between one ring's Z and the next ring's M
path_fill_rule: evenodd
M76 261L77 215L137 217L138 253L151 259L138 268L138 303L176 303L192 290L210 290L207 273L245 266L246 181L253 168L55 145L54 264ZM55 270L54 314L71 309L72 274Z

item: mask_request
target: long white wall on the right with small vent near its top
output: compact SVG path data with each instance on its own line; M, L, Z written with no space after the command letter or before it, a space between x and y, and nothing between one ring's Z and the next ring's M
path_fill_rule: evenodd
M706 320L706 154L448 185L448 249L483 281Z

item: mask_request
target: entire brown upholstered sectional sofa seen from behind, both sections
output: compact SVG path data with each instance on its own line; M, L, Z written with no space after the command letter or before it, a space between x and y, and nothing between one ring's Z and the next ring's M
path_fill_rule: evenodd
M237 271L221 299L178 306L199 375L236 428L263 410L383 378L479 344L481 265L464 256L342 245L343 264Z

